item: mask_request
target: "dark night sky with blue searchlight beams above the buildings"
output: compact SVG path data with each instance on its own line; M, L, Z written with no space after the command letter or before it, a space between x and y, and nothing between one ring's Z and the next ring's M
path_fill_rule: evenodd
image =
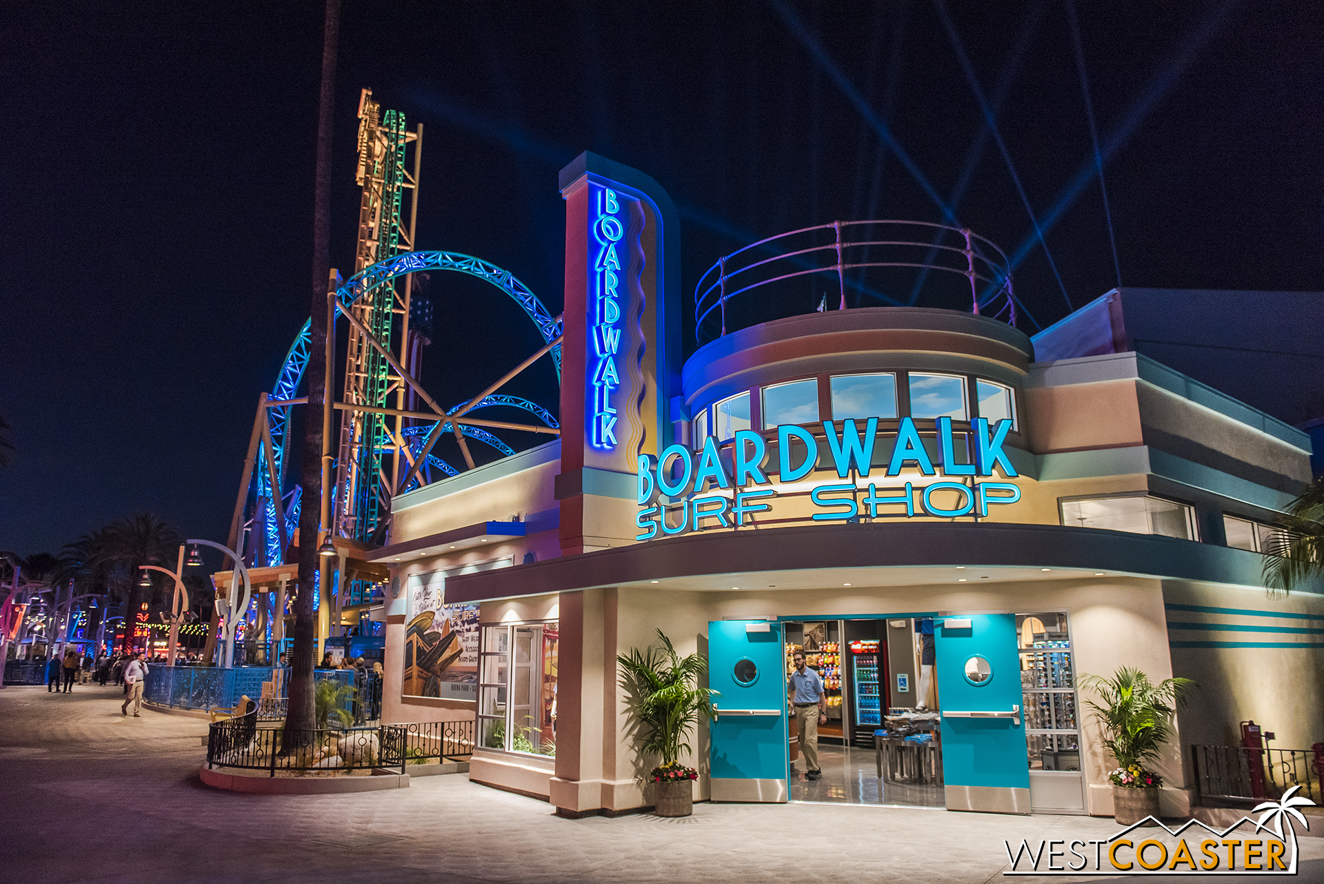
M347 0L332 265L352 269L369 86L425 126L418 246L510 270L553 315L556 173L584 150L671 193L691 327L699 275L753 240L941 221L941 201L1013 253L1035 242L1022 192L1057 269L1038 246L1016 269L1030 333L1119 271L1324 288L1324 5L1079 3L1078 20L1116 262L1062 4ZM17 449L0 549L57 551L139 509L224 541L258 394L308 312L320 42L316 3L0 8ZM448 405L540 344L504 296L450 277L422 377ZM555 412L549 363L510 392Z

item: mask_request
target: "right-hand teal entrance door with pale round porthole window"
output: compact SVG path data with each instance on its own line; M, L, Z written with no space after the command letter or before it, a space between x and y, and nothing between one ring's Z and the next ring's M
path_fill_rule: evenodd
M1030 813L1016 615L933 625L947 809Z

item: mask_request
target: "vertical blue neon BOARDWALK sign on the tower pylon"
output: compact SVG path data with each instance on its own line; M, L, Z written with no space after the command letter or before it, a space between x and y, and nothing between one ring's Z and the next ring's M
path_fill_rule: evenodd
M589 439L593 447L612 450L616 447L616 409L612 406L612 393L621 385L621 376L616 369L616 356L621 348L621 255L617 253L617 243L625 236L625 221L617 214L621 212L621 201L616 191L602 188L597 192L593 206L596 218L593 220L593 236L598 243L598 254L593 261L593 275L597 281L597 291L593 307L593 352L589 363L593 365L591 375L591 394L593 397L592 433Z

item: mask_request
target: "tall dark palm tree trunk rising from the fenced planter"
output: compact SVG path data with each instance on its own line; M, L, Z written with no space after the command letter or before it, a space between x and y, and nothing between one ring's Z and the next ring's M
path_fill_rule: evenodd
M331 269L331 124L335 109L335 61L340 30L340 0L326 0L322 30L322 90L318 99L316 177L312 191L312 287L311 337L308 345L308 410L303 421L303 499L299 511L299 593L294 599L294 652L290 663L290 704L285 719L282 750L294 746L295 730L315 725L312 692L312 648L316 618L312 598L316 592L318 532L322 525L322 421L328 408L326 389L326 303Z

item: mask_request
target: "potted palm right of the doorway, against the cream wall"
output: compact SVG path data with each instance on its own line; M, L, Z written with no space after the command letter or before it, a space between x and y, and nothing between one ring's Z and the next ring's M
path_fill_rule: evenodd
M1158 818L1158 791L1162 778L1144 766L1158 757L1172 738L1172 719L1196 687L1190 679L1164 679L1158 684L1140 670L1121 667L1112 678L1083 675L1080 687L1092 691L1099 703L1086 700L1103 730L1103 745L1117 761L1108 772L1112 782L1113 818L1123 826L1145 817ZM1147 823L1157 826L1157 822Z

